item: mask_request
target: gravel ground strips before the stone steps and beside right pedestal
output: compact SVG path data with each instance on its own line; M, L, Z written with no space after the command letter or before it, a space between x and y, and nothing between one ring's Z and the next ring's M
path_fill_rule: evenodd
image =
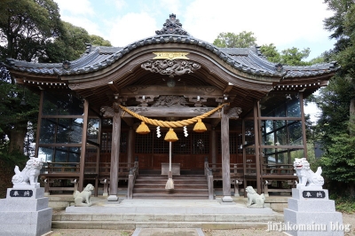
M350 232L345 232L345 236L355 235L355 214L343 214L343 224L351 224ZM206 236L285 236L283 232L266 232L266 229L237 229L237 230L203 230ZM130 236L134 231L119 230L84 230L84 229L53 229L48 236Z

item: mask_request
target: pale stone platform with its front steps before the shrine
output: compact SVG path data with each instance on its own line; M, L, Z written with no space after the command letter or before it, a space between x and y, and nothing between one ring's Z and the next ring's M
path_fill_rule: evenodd
M244 203L221 204L218 200L93 200L91 207L68 207L55 211L52 228L117 229L267 228L268 222L283 221L271 208L246 208Z

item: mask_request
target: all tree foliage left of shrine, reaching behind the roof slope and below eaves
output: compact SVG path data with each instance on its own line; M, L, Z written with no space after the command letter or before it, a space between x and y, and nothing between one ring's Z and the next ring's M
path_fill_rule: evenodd
M85 43L91 42L110 44L60 20L58 4L52 0L1 0L0 61L74 60L85 51ZM16 84L0 65L0 99L0 147L10 153L23 153L28 123L36 129L39 98Z

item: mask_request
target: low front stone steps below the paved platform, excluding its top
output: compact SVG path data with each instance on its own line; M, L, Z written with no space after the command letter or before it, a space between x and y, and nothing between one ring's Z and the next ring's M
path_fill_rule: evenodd
M283 222L279 213L260 216L243 214L54 214L55 229L134 230L136 228L202 228L248 229L267 228L268 222Z

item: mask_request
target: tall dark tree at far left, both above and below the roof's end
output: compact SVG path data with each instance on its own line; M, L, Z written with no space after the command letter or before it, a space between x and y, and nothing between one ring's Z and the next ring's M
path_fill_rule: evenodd
M45 53L46 44L62 33L59 8L53 1L2 1L0 59L36 61ZM6 75L4 71L3 68L0 81L1 141L2 144L8 143L10 153L22 153L28 122L36 123L38 96L20 87L12 76Z

